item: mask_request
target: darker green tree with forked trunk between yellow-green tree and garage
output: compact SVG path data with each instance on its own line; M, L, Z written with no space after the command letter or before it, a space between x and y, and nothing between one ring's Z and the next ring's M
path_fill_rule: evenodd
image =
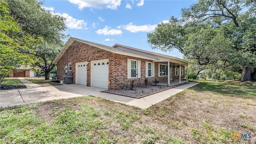
M33 56L37 60L35 64L45 72L45 79L49 79L48 74L55 66L52 62L58 55L58 49L64 45L62 39L66 38L65 18L45 10L43 3L37 0L7 2L21 31L43 38L44 42L38 46L31 46L29 50L20 49L20 52Z

